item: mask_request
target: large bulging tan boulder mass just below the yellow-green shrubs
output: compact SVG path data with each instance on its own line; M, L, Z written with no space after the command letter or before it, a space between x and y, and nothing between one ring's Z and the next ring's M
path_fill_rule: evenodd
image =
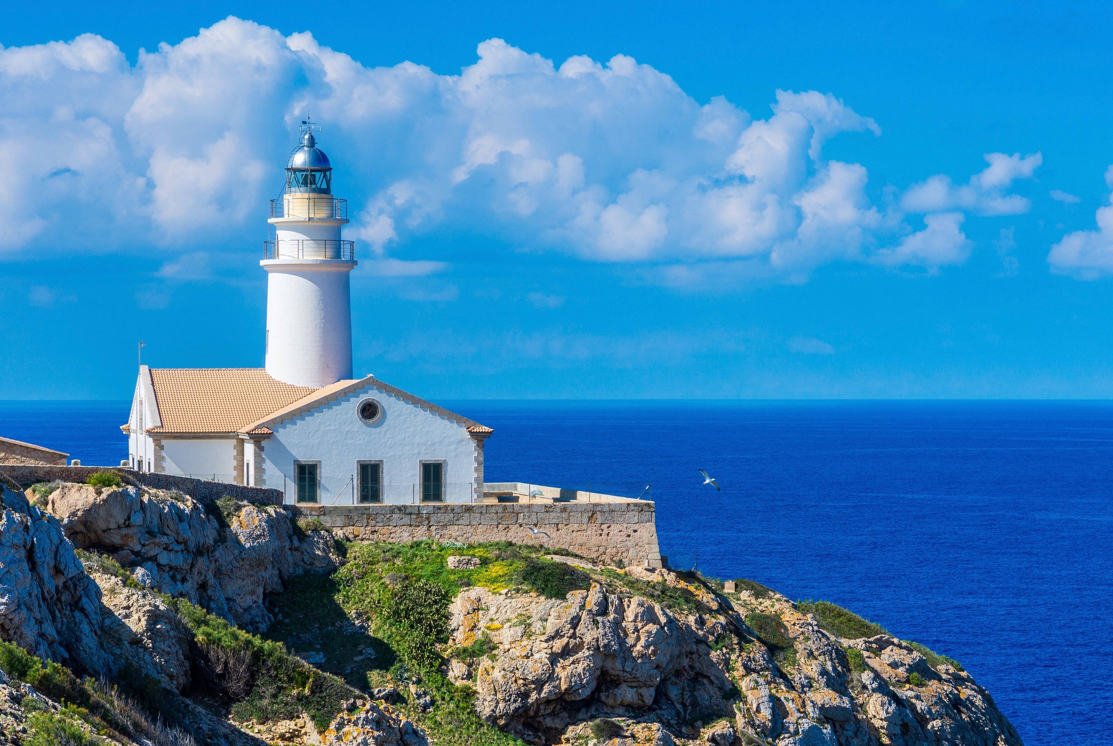
M451 611L455 645L484 634L498 645L493 660L466 672L476 710L531 743L553 743L577 720L650 708L667 722L732 713L729 670L708 655L708 643L728 633L722 619L697 626L599 584L561 600L470 588Z

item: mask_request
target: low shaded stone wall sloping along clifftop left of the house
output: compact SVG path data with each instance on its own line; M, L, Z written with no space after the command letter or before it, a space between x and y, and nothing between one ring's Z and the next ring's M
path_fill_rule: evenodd
M21 466L0 465L0 476L8 477L21 487L28 487L37 481L78 481L83 483L95 471L115 471L125 484L155 489L176 489L188 495L198 503L214 503L224 495L242 503L254 505L282 505L280 489L263 487L245 487L229 485L223 481L208 481L190 477L177 477L169 474L136 471L122 467L104 466Z

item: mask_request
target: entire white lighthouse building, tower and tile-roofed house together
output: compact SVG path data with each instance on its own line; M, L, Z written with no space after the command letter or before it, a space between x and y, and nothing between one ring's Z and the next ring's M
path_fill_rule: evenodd
M139 368L130 466L284 490L287 503L469 503L492 430L352 375L347 202L313 127L270 201L264 368Z

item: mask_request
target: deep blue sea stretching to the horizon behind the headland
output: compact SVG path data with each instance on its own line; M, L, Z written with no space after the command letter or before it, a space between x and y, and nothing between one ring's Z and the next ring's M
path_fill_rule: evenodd
M444 404L495 429L489 481L644 493L673 566L957 658L1028 746L1113 743L1113 404ZM0 402L0 435L116 464L127 409Z

